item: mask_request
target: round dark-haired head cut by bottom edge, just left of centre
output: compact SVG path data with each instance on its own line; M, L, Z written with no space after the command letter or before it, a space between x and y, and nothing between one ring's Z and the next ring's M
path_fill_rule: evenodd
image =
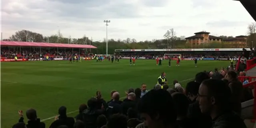
M110 116L108 123L108 128L127 128L127 118L123 114L114 114Z

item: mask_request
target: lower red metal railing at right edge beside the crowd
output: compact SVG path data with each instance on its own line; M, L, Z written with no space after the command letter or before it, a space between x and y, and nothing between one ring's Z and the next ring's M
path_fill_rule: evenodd
M245 79L248 79L249 83L243 85L243 88L249 88L249 87L254 88L254 106L253 106L254 118L251 120L251 122L255 122L256 121L256 96L255 96L255 94L256 94L256 88L255 88L256 76L239 76L238 78L241 82L243 82Z

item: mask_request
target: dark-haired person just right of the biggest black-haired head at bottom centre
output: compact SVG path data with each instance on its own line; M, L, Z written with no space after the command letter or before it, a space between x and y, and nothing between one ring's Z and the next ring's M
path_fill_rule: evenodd
M187 117L189 100L185 94L174 92L172 99L177 109L177 122L182 128L196 128L192 119ZM198 123L198 122L197 122Z

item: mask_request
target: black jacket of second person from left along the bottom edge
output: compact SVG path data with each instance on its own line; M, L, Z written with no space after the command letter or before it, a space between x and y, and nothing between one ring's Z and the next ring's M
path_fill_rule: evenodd
M74 123L75 123L75 120L72 117L59 116L58 120L55 120L54 122L52 122L49 128L58 128L58 126L61 126L61 125L66 125L68 126L68 128L73 128Z

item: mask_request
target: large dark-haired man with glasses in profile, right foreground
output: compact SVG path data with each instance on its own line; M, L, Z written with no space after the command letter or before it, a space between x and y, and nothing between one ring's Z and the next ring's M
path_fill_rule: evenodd
M230 98L230 88L222 80L209 79L200 85L200 109L202 113L211 116L212 128L246 128L240 116L230 110Z

